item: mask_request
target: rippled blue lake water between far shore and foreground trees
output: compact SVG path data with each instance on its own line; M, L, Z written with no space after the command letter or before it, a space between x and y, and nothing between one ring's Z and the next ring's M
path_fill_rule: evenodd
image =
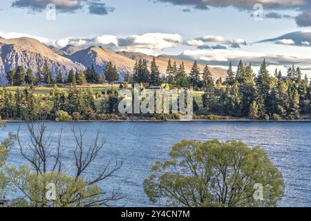
M311 123L310 122L48 122L48 131L55 139L63 128L64 161L71 171L75 148L72 125L86 129L91 142L97 130L106 138L101 162L115 156L124 158L120 171L102 184L105 190L120 188L126 198L116 206L155 206L149 202L142 188L143 180L151 173L151 166L158 160L167 160L171 146L184 139L241 140L249 146L263 147L274 166L284 176L285 195L279 206L311 206ZM16 133L19 123L8 123L0 133L0 140L8 132ZM25 133L23 133L25 132ZM21 140L27 144L26 124L21 124ZM8 159L9 164L21 164L17 148ZM89 171L92 173L92 171Z

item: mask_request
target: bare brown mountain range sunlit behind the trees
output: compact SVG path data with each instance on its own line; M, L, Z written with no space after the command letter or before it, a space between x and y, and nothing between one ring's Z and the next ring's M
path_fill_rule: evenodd
M151 64L153 56L144 55L139 52L112 52L106 48L91 46L88 48L82 46L68 45L64 48L55 48L46 46L36 39L21 37L17 39L3 39L0 37L0 84L6 84L6 73L17 66L31 68L36 72L38 68L43 68L44 62L47 61L53 76L58 73L59 69L63 73L68 73L70 69L84 70L86 67L95 67L98 73L104 73L104 67L109 61L117 67L120 73L120 79L124 75L133 74L133 66L139 59L147 59ZM185 70L190 72L193 61L177 59L176 57L159 55L156 57L156 64L160 73L164 74L167 69L167 63L175 62L179 66L182 62L185 64ZM199 64L200 70L204 68ZM222 68L210 68L214 79L225 77L226 70Z

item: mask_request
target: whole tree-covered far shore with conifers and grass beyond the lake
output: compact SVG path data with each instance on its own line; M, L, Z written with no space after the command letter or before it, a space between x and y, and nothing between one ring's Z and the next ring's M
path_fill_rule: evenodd
M23 119L25 113L32 119L45 115L46 119L71 120L173 120L178 114L120 115L117 104L122 97L120 89L160 87L167 90L184 88L194 90L194 119L209 120L296 120L309 119L311 115L311 86L299 67L288 68L283 75L275 70L270 75L265 60L256 75L251 64L240 61L236 72L229 64L227 77L214 80L205 66L198 68L194 62L190 73L185 66L169 60L167 72L162 75L153 58L151 68L147 60L140 59L133 67L133 76L125 75L122 82L115 65L109 62L96 73L94 67L77 72L61 73L53 78L47 64L43 70L17 70L8 73L10 87L0 89L0 115L3 119ZM96 88L95 84L102 85ZM105 84L111 84L111 88ZM37 93L38 88L48 87L46 93ZM301 117L302 116L302 117Z

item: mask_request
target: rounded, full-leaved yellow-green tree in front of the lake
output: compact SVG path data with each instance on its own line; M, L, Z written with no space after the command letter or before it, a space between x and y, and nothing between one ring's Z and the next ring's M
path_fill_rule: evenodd
M156 162L144 180L151 202L183 207L276 206L284 193L281 172L265 151L243 142L175 144L167 162ZM263 186L263 200L256 197L256 184Z

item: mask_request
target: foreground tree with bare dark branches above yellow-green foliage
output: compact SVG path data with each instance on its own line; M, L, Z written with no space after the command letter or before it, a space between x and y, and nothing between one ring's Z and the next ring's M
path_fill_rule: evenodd
M92 207L109 206L117 200L124 198L120 191L108 193L100 188L107 178L119 170L123 164L122 160L116 159L115 163L100 162L99 173L89 176L88 171L94 165L98 153L102 151L104 142L99 133L95 135L92 145L85 145L85 131L73 131L73 164L74 168L70 174L64 170L64 149L62 146L62 131L58 138L51 140L44 122L39 124L27 123L30 139L32 142L23 144L19 140L19 150L23 159L28 164L22 166L7 166L6 179L14 187L19 197L10 202L10 206L33 206L33 207ZM40 137L38 139L37 137ZM26 148L30 147L29 149ZM50 166L51 165L51 166ZM0 182L2 179L0 180ZM55 184L57 189L56 199L49 201L46 198L46 186Z

